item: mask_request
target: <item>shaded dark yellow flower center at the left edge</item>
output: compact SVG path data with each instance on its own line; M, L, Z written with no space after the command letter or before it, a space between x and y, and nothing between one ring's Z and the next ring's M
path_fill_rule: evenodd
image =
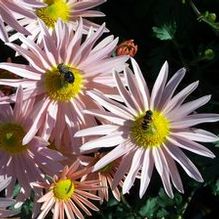
M22 145L25 131L15 123L0 123L0 150L15 154L23 152L27 146Z

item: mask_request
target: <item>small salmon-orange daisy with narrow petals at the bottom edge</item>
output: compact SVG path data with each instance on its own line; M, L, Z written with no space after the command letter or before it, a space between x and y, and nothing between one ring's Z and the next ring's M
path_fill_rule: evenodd
M98 180L84 180L81 177L90 172L90 168L80 169L80 162L75 161L70 167L66 166L60 176L55 175L49 184L34 183L34 186L48 190L38 202L43 203L42 212L37 219L43 219L52 209L53 218L68 219L79 218L91 215L89 209L98 211L99 209L90 200L100 200L91 192L100 189ZM90 199L90 200L88 200Z

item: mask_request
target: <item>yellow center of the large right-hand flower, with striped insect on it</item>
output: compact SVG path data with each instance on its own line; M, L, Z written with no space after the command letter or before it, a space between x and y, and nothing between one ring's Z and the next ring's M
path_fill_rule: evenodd
M160 147L166 141L169 131L167 118L157 111L148 110L135 119L130 136L139 147Z

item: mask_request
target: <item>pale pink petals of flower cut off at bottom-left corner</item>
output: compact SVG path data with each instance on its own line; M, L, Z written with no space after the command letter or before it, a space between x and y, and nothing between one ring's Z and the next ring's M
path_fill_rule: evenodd
M3 176L0 176L0 192L8 186L10 181L11 178L4 178ZM13 205L14 203L15 203L14 199L0 198L0 218L10 217L17 214L17 212L13 210L6 209L7 207Z

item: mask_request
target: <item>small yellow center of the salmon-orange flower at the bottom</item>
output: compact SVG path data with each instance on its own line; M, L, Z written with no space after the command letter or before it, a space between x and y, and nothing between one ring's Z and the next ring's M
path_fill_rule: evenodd
M59 200L68 200L75 191L75 185L70 179L61 179L55 183L53 193Z

